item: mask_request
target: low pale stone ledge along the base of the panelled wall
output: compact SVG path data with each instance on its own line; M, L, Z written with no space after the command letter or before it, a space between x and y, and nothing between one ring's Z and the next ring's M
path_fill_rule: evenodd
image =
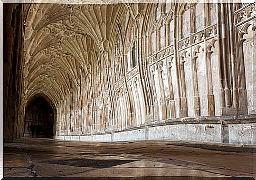
M120 142L148 139L256 145L255 116L172 119L106 134L54 136L68 141Z

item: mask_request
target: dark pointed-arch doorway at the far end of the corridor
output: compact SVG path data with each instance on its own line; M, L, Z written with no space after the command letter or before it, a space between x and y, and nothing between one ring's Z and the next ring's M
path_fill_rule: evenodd
M52 138L54 113L50 104L37 97L27 105L25 114L25 137Z

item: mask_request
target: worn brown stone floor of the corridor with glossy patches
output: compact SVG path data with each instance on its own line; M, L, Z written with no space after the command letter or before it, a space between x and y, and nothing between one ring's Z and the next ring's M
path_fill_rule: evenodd
M252 146L184 141L94 143L22 138L4 143L4 177L255 178L254 154Z

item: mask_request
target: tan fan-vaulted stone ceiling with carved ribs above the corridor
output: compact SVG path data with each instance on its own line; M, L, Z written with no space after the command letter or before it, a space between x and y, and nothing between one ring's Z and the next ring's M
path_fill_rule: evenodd
M24 101L44 94L58 103L90 73L93 53L108 58L125 4L24 4Z

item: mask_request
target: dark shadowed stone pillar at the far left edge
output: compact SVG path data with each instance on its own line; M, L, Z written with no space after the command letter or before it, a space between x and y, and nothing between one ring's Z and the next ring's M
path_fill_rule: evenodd
M3 134L4 141L17 136L18 111L21 108L22 21L21 4L2 4L3 7ZM2 34L2 33L1 33ZM1 74L2 76L2 74Z

